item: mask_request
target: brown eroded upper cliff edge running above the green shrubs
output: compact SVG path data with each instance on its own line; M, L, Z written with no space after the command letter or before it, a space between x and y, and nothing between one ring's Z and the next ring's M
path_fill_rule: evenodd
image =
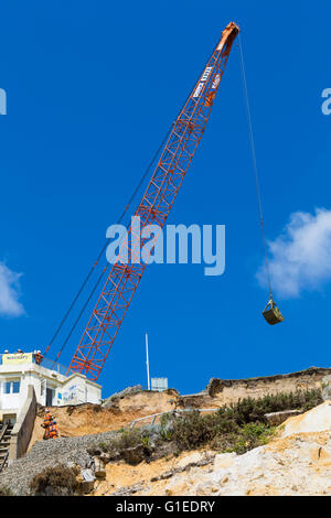
M260 398L277 392L316 388L322 389L325 393L324 399L328 399L328 395L331 396L329 386L331 388L331 368L311 367L299 373L264 378L227 380L213 378L207 388L196 395L181 396L174 389L164 392L140 390L116 397L107 407L86 403L78 407L54 407L51 411L57 419L62 436L81 436L118 430L136 419L172 411L174 408L217 408L247 397ZM40 409L29 450L36 441L42 440L42 420L43 409ZM142 421L137 425L148 422L148 420Z

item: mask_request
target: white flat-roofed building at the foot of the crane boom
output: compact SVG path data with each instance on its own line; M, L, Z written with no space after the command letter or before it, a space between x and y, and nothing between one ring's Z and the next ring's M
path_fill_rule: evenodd
M55 361L43 359L38 365L33 353L0 355L0 421L15 421L28 397L28 387L34 387L38 403L61 407L85 402L102 402L102 386L81 374L66 376L66 369Z

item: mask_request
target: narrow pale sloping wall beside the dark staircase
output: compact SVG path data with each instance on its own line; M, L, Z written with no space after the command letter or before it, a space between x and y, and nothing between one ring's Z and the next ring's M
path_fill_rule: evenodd
M9 461L21 457L28 450L36 416L36 398L32 385L28 387L28 398L11 432Z

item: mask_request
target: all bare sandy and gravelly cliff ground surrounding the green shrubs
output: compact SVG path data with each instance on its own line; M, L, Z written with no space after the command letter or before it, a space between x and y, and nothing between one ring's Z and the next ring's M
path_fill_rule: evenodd
M192 396L181 397L175 390L160 393L142 390L116 397L107 408L95 404L54 408L52 411L57 418L62 438L52 441L40 440L43 417L40 409L33 436L36 443L28 455L1 474L2 485L15 494L25 494L31 476L50 465L68 462L86 467L93 462L93 455L96 455L95 462L102 464L102 457L90 451L113 440L116 435L114 430L129 424L134 419L169 412L175 407L217 408L247 396L259 398L298 389L322 389L328 399L330 371L310 368L265 378L212 379L205 391ZM331 495L330 401L288 419L278 432L269 444L243 455L221 454L217 445L204 444L180 455L174 455L172 450L163 451L162 457L146 458L135 466L124 460L107 457L105 467L99 470L103 479L97 478L95 494Z

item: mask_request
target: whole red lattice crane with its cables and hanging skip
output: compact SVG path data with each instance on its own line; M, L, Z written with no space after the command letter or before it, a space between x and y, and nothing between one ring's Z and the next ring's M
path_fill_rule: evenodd
M239 28L234 22L231 22L223 31L220 42L217 43L211 57L204 66L203 72L200 74L192 91L184 101L183 107L180 109L178 117L172 122L171 128L168 130L160 148L150 162L141 181L134 191L134 194L130 197L129 203L127 204L119 220L121 220L125 214L128 212L134 202L134 198L142 185L142 182L148 177L148 174L152 170L154 163L157 163L142 199L134 213L134 216L140 218L141 229L151 224L157 224L160 228L162 228L166 224L175 196L182 185L183 179L190 168L191 161L205 130L222 76L225 72L231 50L238 34ZM241 55L244 94L246 99L247 122L250 136L253 166L256 180L257 199L265 248L266 273L270 291L270 299L267 306L263 311L263 315L270 325L275 325L279 322L282 322L284 317L274 301L271 291L261 196L257 174L255 144L241 37L238 37L238 47ZM131 239L132 235L134 229L129 227L128 239L122 242L118 257L122 257L124 253L128 258L141 257L141 255L137 253L137 250L135 250L135 246L139 246L141 250L145 241L138 240L137 245L137 240ZM58 335L78 296L86 287L95 267L104 255L105 249L106 246L99 252L95 265L92 267L68 311L55 331L55 334L46 347L45 353L50 349L54 339ZM151 252L152 249L149 250L149 253ZM129 261L126 265L121 262L116 262L113 266L108 263L106 265L57 354L56 360L62 354L66 343L71 338L72 333L81 320L89 301L92 300L93 294L95 292L97 293L96 290L98 289L99 283L104 281L104 287L93 309L75 354L71 360L67 374L75 371L81 373L93 381L97 381L120 325L125 319L127 310L130 305L132 296L138 288L147 263L148 260L145 260L143 262L137 262L135 259L135 261ZM110 270L109 273L108 268Z

